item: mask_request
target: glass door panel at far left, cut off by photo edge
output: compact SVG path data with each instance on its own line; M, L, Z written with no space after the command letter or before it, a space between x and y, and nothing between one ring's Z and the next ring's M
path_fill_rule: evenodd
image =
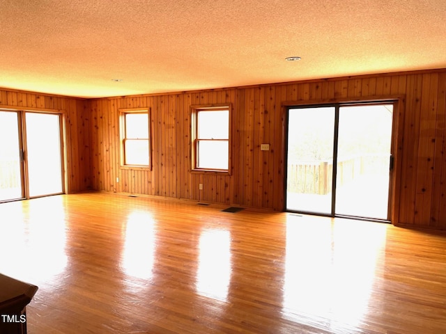
M0 201L23 198L19 117L0 111Z

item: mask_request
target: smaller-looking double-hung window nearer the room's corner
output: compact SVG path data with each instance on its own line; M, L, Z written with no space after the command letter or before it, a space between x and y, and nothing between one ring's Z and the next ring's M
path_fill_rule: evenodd
M121 110L121 161L123 166L149 167L148 110Z

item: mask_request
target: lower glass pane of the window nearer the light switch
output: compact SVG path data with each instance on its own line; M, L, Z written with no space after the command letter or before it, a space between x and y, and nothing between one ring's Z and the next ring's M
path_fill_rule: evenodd
M228 141L199 141L197 167L208 169L229 169Z

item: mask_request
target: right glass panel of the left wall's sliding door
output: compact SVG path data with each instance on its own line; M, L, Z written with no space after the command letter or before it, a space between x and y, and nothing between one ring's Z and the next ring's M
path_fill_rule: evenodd
M63 192L60 118L26 113L29 197Z

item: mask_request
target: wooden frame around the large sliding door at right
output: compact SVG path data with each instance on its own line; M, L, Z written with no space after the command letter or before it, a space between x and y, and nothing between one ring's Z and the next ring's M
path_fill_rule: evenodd
M405 109L405 95L388 95L383 97L362 97L357 99L336 99L336 100L309 100L309 101L288 101L282 103L282 161L283 161L283 180L282 180L282 211L283 212L294 212L286 208L286 189L287 189L287 176L288 176L288 131L289 131L289 110L293 108L305 108L305 107L321 107L321 106L351 106L351 105L361 105L361 104L393 104L393 115L392 115L392 138L390 155L393 159L393 168L389 170L389 199L388 199L388 212L387 215L389 220L385 220L387 223L397 223L399 219L399 189L401 185L401 150L403 143L403 124L400 122L401 113ZM334 120L335 131L337 131L337 126L339 120ZM334 134L336 136L336 134ZM335 138L333 139L335 141ZM337 150L337 148L334 148ZM333 173L332 182L336 182L336 174ZM333 189L333 191L335 188ZM333 196L334 199L334 196ZM343 216L334 214L334 205L332 203L331 214L318 214L314 212L301 212L303 214L313 214L320 216L330 216L330 217L344 217L344 218L354 218L363 219L367 221L383 221L375 218L362 218L353 216Z

